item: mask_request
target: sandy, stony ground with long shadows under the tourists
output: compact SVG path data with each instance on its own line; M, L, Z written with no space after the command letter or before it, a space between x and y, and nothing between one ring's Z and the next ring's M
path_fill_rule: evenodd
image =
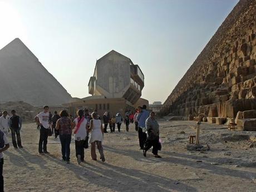
M71 164L62 162L60 143L53 137L48 139L51 154L39 155L39 131L35 124L24 124L24 149L14 150L11 144L4 152L5 191L256 191L256 147L240 136L252 133L202 124L200 142L208 143L210 150L187 151L195 121L159 122L162 159L150 151L142 156L132 124L130 132L122 126L120 133L104 135L105 163L92 161L87 149L81 165L74 143Z

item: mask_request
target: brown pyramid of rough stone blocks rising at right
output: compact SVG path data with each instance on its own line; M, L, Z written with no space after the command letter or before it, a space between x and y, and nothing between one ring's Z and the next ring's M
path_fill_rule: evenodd
M256 109L256 0L240 0L161 109L235 117Z

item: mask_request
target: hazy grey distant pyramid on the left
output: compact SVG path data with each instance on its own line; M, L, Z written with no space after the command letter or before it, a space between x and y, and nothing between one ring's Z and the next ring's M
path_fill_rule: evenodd
M33 106L61 105L71 95L18 38L0 50L0 103L24 101Z

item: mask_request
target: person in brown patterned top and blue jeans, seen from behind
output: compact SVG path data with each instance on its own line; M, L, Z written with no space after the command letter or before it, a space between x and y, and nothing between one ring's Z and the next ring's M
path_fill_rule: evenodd
M56 130L59 130L60 141L61 141L61 153L62 160L66 161L67 164L70 163L70 143L72 129L75 126L70 118L68 118L68 113L66 110L60 112L61 118L56 122Z

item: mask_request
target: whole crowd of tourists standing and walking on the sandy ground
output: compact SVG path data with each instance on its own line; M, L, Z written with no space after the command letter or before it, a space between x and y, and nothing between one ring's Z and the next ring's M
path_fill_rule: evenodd
M22 148L20 130L22 128L21 117L16 115L16 111L11 111L12 116L8 115L7 111L0 114L0 191L3 191L3 154L2 152L9 147L8 133L11 131L12 144L15 149ZM78 110L75 117L68 114L66 110L62 110L60 114L57 111L54 115L49 111L48 106L43 107L43 111L35 117L37 128L40 130L38 152L41 155L50 154L47 150L48 136L59 136L61 142L62 160L67 164L70 163L70 144L72 133L75 139L75 150L77 163L85 161L85 149L91 146L91 158L97 160L96 145L99 150L101 161L105 161L102 141L104 133L107 133L109 125L110 132L115 132L117 125L118 132L121 131L121 124L124 121L126 131L129 132L129 125L135 124L135 130L139 136L140 150L146 157L147 151L152 148L152 154L155 157L161 158L158 151L161 150L159 141L159 124L155 119L155 113L146 110L146 105L137 107L135 112L128 110L123 118L121 113L110 117L108 112L105 112L101 117L97 114L97 110L89 113L87 109ZM17 142L16 142L17 135Z

